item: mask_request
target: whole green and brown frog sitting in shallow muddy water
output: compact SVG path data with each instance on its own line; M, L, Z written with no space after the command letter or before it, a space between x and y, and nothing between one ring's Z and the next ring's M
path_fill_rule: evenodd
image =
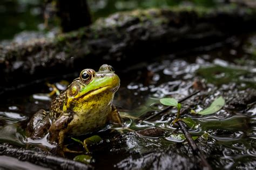
M122 124L113 107L114 93L119 88L119 77L112 67L102 65L98 72L84 69L66 90L52 100L50 112L39 110L30 120L30 138L42 138L63 146L66 136L76 136L103 128L107 122Z

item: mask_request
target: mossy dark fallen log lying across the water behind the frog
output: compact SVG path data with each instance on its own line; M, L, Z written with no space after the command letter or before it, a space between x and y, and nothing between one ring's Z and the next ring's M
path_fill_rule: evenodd
M147 57L211 45L255 31L256 10L149 9L120 12L52 39L0 46L2 87L58 76L102 63L122 68ZM117 65L118 63L118 65Z

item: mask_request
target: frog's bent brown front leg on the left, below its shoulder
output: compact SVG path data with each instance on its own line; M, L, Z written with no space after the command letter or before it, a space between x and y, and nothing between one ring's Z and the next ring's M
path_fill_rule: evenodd
M65 133L68 132L68 124L72 120L71 115L62 115L57 121L53 122L49 129L49 141L57 143L60 148L63 148Z

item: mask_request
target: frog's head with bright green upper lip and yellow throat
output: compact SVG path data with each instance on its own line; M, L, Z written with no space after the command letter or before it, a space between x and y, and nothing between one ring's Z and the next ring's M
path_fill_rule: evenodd
M84 69L67 88L63 111L88 109L93 107L93 102L111 104L119 86L120 79L109 65L102 65L98 72Z

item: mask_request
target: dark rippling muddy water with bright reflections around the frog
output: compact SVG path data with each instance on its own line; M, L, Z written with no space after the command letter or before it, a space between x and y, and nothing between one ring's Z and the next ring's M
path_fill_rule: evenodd
M114 104L123 117L124 126L107 125L100 132L77 137L83 140L97 134L102 138L100 143L89 146L91 164L97 169L199 168L199 160L181 136L181 131L172 125L176 109L148 121L143 119L165 108L159 98L181 100L200 89L199 94L182 103L185 110L182 116L193 119L194 126L189 131L210 165L214 169L255 167L255 42L256 36L252 36L239 48L241 51L232 46L197 55L171 54L160 56L158 61L117 70L122 82ZM60 90L66 87L59 81L51 83ZM31 150L33 147L48 150L54 147L46 138L27 139L24 132L32 114L39 109L49 110L50 91L43 84L35 94L17 93L0 104L1 143ZM208 116L190 114L191 109L207 108L218 96L225 98L223 109ZM150 131L151 128L158 130ZM83 147L70 138L65 144L83 151ZM76 155L66 156L73 159ZM24 163L23 166L28 165Z

